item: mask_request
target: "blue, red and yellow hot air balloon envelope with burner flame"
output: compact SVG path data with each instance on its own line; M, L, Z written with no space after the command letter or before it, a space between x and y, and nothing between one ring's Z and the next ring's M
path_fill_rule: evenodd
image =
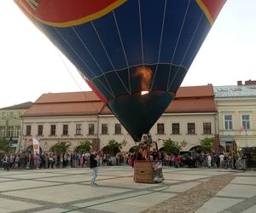
M134 141L175 97L226 0L15 0Z

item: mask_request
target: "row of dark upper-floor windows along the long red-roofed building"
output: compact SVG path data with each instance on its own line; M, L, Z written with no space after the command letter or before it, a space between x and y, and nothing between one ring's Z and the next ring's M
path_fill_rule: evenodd
M195 123L187 124L187 133L195 134ZM32 135L32 126L26 125L26 135ZM76 124L76 135L82 135L82 124ZM114 134L120 135L122 134L121 124L114 124ZM157 124L157 134L165 134L165 124ZM179 135L180 132L180 124L173 123L172 124L172 134ZM212 124L211 123L203 123L203 134L212 134ZM38 135L44 135L44 126L38 125ZM51 124L49 129L49 135L56 135L56 125ZM62 135L68 135L68 124L62 125ZM88 125L88 135L95 135L95 124ZM108 124L102 124L102 135L108 135Z

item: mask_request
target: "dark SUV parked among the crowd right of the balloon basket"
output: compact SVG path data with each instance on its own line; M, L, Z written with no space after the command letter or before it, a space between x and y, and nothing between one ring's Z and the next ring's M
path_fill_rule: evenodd
M178 155L181 157L182 166L199 166L199 153L196 153L195 151L180 151Z

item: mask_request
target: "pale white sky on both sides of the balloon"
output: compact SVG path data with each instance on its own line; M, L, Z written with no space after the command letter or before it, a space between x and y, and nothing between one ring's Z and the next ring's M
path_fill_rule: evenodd
M228 0L182 86L256 80L256 0ZM0 0L0 108L44 93L90 90L76 68L27 20Z

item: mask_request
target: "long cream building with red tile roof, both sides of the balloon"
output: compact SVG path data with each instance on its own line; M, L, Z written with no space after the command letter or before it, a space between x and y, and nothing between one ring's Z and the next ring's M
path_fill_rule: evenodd
M90 141L94 149L102 149L114 139L123 145L123 152L135 142L118 119L93 92L44 94L22 116L20 151L32 147L28 140L38 138L43 152L58 141L71 143L70 151L80 141ZM216 138L217 109L212 85L183 87L174 101L150 130L154 141L171 138L189 150L200 145L205 137Z

